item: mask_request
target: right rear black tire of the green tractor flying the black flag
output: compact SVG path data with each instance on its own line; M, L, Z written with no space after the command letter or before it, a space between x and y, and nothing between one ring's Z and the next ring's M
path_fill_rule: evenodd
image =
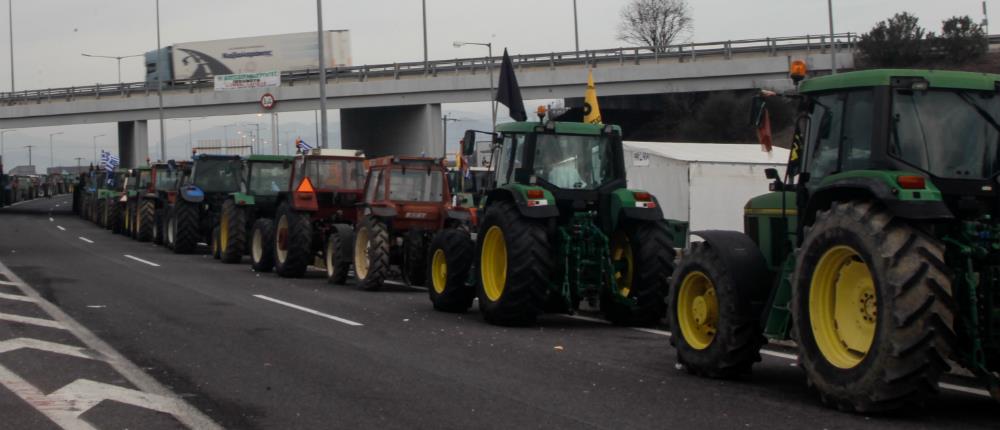
M677 255L673 235L663 221L624 223L610 238L611 257L612 261L621 261L631 255L631 267L626 264L624 270L616 273L621 279L631 278L631 285L625 300L605 290L601 295L601 310L604 317L614 324L652 326L666 315L666 297ZM614 255L618 244L622 251ZM632 273L628 273L629 270Z

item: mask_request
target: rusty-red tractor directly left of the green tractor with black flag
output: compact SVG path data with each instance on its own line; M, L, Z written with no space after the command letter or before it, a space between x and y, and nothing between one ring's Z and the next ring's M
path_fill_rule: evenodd
M379 289L398 265L408 284L423 285L431 237L442 229L468 229L473 213L452 201L441 159L382 157L368 167L354 240L358 283Z

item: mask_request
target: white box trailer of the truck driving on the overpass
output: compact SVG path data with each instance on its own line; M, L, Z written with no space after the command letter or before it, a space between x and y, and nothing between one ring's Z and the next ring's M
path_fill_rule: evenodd
M323 35L326 67L350 66L350 32L328 30ZM316 70L319 69L318 48L316 32L177 43L170 48L173 79Z

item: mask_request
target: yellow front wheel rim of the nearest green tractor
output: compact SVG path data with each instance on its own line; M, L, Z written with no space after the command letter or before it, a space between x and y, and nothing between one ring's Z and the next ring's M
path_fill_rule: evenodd
M708 348L719 328L719 299L708 275L700 271L688 273L677 293L676 307L677 322L687 344L697 350Z

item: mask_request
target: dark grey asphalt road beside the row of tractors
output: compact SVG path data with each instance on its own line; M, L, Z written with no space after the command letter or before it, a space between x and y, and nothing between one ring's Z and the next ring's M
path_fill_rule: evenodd
M92 428L208 426L199 414L238 429L1000 426L1000 407L975 389L888 416L841 413L820 404L780 346L746 380L701 379L675 366L665 328L560 315L494 327L475 310L435 312L405 286L363 292L319 272L288 280L174 255L69 208L64 196L0 210L0 263L13 272L0 270L0 427L87 428L57 425L51 402L25 401L4 370L43 400L81 380L125 390L75 409ZM9 297L23 293L17 279L44 300ZM55 318L50 308L96 341L23 318ZM4 352L11 339L49 343ZM135 401L145 393L162 402Z

